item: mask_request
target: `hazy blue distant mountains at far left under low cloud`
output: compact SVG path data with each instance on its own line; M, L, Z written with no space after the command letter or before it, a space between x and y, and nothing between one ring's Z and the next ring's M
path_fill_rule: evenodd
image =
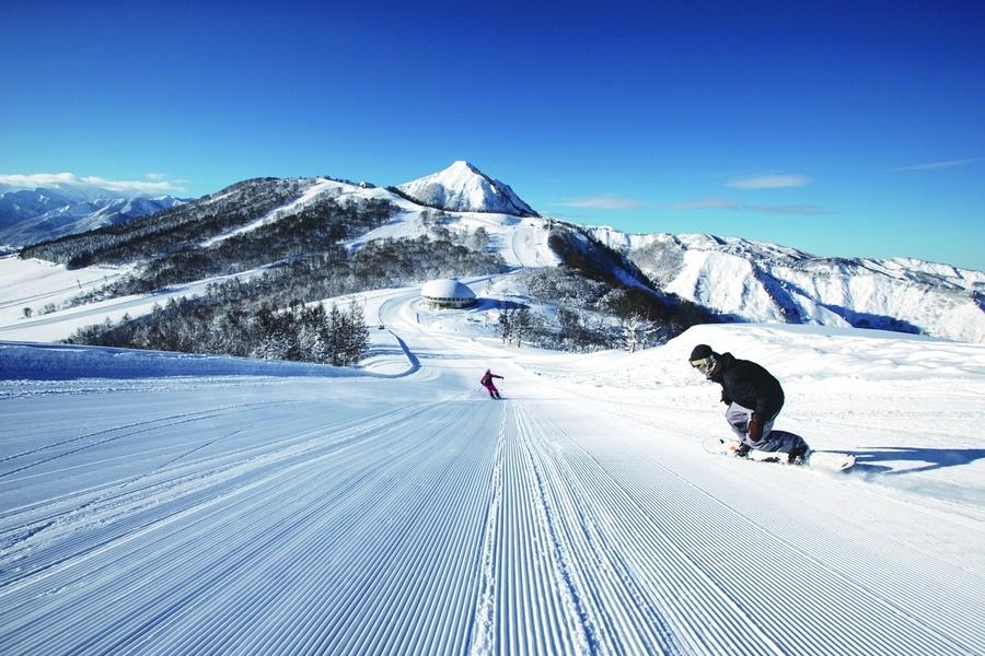
M73 185L0 188L0 244L26 245L124 223L185 202Z

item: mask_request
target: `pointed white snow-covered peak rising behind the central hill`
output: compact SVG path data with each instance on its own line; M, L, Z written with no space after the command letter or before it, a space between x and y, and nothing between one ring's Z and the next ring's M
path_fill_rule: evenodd
M498 212L514 216L538 214L510 186L495 180L465 161L397 187L421 204L452 212Z

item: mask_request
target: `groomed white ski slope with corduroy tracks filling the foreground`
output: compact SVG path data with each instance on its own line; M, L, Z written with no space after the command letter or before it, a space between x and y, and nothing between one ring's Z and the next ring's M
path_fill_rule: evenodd
M711 326L575 356L414 296L368 297L360 376L0 343L9 377L74 372L0 382L0 653L985 653L982 347ZM856 471L705 454L698 341L777 371L781 426Z

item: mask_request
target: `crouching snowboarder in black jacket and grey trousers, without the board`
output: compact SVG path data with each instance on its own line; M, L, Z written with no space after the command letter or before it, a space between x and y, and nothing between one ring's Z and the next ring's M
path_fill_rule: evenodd
M691 366L721 385L721 402L729 407L726 421L739 436L737 456L745 456L754 448L787 454L792 464L804 461L809 447L802 437L773 432L773 423L784 407L784 389L769 372L731 353L716 353L708 344L694 348Z

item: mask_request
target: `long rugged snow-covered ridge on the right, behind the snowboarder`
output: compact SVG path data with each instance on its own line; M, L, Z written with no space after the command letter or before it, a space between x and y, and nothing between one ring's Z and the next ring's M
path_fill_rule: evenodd
M820 258L700 234L592 234L661 289L749 321L884 328L985 340L985 272L918 259Z

